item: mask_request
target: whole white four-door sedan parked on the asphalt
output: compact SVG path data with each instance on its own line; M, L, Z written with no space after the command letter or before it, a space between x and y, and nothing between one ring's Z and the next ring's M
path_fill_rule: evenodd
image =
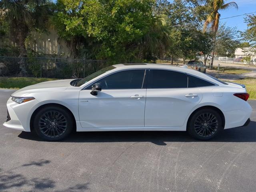
M7 102L4 126L56 141L76 131L187 131L208 140L250 122L249 94L195 70L117 64L84 79L27 86Z

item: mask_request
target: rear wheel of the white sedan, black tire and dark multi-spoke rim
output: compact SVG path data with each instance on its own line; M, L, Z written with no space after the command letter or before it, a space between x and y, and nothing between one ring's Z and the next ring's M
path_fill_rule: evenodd
M190 116L187 132L195 139L210 140L223 130L220 114L211 108L198 110Z

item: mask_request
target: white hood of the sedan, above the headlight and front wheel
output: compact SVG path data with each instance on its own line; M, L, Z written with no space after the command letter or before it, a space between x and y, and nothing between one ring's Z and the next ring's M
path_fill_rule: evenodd
M55 80L55 81L46 81L34 85L24 87L17 90L12 94L12 96L24 97L29 93L35 92L50 92L50 91L63 91L67 87L71 86L70 82L74 79L65 79L65 80Z

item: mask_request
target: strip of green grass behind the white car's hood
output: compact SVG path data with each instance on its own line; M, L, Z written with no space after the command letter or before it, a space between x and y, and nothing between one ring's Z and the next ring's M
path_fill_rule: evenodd
M20 89L36 83L57 79L35 77L0 77L0 88Z

